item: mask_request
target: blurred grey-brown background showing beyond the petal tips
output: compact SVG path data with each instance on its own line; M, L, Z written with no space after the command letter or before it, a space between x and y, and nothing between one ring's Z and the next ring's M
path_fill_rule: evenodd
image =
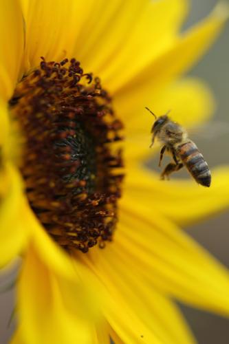
M192 0L188 21L184 29L203 18L217 3L216 0ZM225 121L229 126L229 25L210 52L193 68L191 76L199 76L208 82L215 97L218 109L216 120ZM228 163L229 132L212 140L198 138L197 145L204 152L210 166ZM189 234L215 257L229 267L229 213L208 219L197 226L189 228ZM3 291L11 283L14 274L10 272L0 281L0 344L8 343L12 327L8 326L14 307L12 289ZM229 319L208 314L180 305L188 323L193 329L199 344L228 344ZM41 343L42 344L42 343ZM102 343L101 343L102 344ZM150 343L149 343L150 344ZM176 343L174 343L176 344ZM184 343L185 344L185 343Z

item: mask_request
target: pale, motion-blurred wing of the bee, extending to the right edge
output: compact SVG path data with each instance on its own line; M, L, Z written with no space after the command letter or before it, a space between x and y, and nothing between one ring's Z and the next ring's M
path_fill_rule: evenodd
M203 138L204 140L214 140L229 134L229 122L211 120L198 127L188 129L190 138Z

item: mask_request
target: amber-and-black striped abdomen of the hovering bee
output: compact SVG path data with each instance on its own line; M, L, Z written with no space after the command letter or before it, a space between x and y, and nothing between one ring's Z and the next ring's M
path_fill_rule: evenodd
M182 143L177 147L176 151L197 183L209 187L210 169L195 143L192 141Z

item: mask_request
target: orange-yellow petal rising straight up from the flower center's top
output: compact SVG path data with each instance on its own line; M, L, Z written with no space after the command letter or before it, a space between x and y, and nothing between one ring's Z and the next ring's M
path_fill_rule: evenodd
M41 56L47 61L74 57L76 36L94 2L21 0L26 28L25 71L39 65Z

